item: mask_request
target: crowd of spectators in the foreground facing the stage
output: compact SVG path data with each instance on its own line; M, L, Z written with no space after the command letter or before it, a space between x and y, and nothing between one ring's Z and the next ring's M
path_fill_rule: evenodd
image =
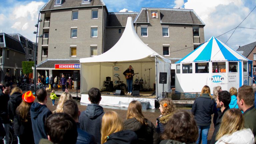
M13 121L19 144L207 144L212 114L214 132L210 143L254 144L256 134L256 84L232 87L229 92L220 86L209 86L192 106L191 112L177 109L171 99L162 99L156 126L142 113L139 101L130 102L126 119L99 105L101 92L91 88L86 110L79 111L68 92L59 98L56 110L47 106L48 95L39 89L36 96L18 87L10 92L7 82L0 92L0 139L9 143L9 124ZM55 105L54 91L50 99ZM37 99L37 102L35 102Z

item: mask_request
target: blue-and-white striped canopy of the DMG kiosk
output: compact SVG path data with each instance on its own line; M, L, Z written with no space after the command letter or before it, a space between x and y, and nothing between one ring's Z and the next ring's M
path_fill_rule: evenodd
M203 62L203 61L250 61L237 51L212 36L204 44L177 61L179 63Z

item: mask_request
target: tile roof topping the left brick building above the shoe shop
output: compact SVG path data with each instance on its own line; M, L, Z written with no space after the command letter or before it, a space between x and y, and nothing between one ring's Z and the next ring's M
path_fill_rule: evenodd
M49 0L45 6L40 10L58 10L58 9L68 9L68 8L79 8L79 7L91 7L91 6L105 6L102 0L91 0L91 2L83 3L82 0L62 0L61 5L55 5L55 0Z

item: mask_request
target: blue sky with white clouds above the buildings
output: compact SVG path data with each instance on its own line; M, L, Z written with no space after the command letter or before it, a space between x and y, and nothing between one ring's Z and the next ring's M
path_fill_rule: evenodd
M34 25L37 23L40 9L48 0L0 1L0 32L2 31L7 34L19 33L35 42L36 37L33 32L36 31L36 27ZM232 30L218 37L218 39L223 43L227 42L226 44L235 50L239 46L244 46L256 41L256 8L253 10L256 6L255 0L103 1L109 12L124 12L125 10L130 12L139 12L141 7L193 9L205 23L205 41L211 38L211 36L220 36L237 26L254 29L236 28L235 31ZM252 13L246 18L251 11Z

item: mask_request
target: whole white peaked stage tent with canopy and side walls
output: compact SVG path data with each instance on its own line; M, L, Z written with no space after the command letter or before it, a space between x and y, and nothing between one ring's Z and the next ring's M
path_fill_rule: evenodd
M119 71L118 76L125 83L122 73L129 65L132 65L135 73L139 73L134 76L134 79L136 77L149 79L149 71L145 69L152 68L150 87L153 88L156 83L156 96L161 96L163 91L163 84L158 84L159 72L167 72L167 84L164 84L164 91L171 91L171 61L141 41L134 29L131 17L127 19L121 38L110 50L95 57L81 58L80 63L81 93L88 92L92 87L102 89L106 77L111 77L111 80L116 79L115 71Z

